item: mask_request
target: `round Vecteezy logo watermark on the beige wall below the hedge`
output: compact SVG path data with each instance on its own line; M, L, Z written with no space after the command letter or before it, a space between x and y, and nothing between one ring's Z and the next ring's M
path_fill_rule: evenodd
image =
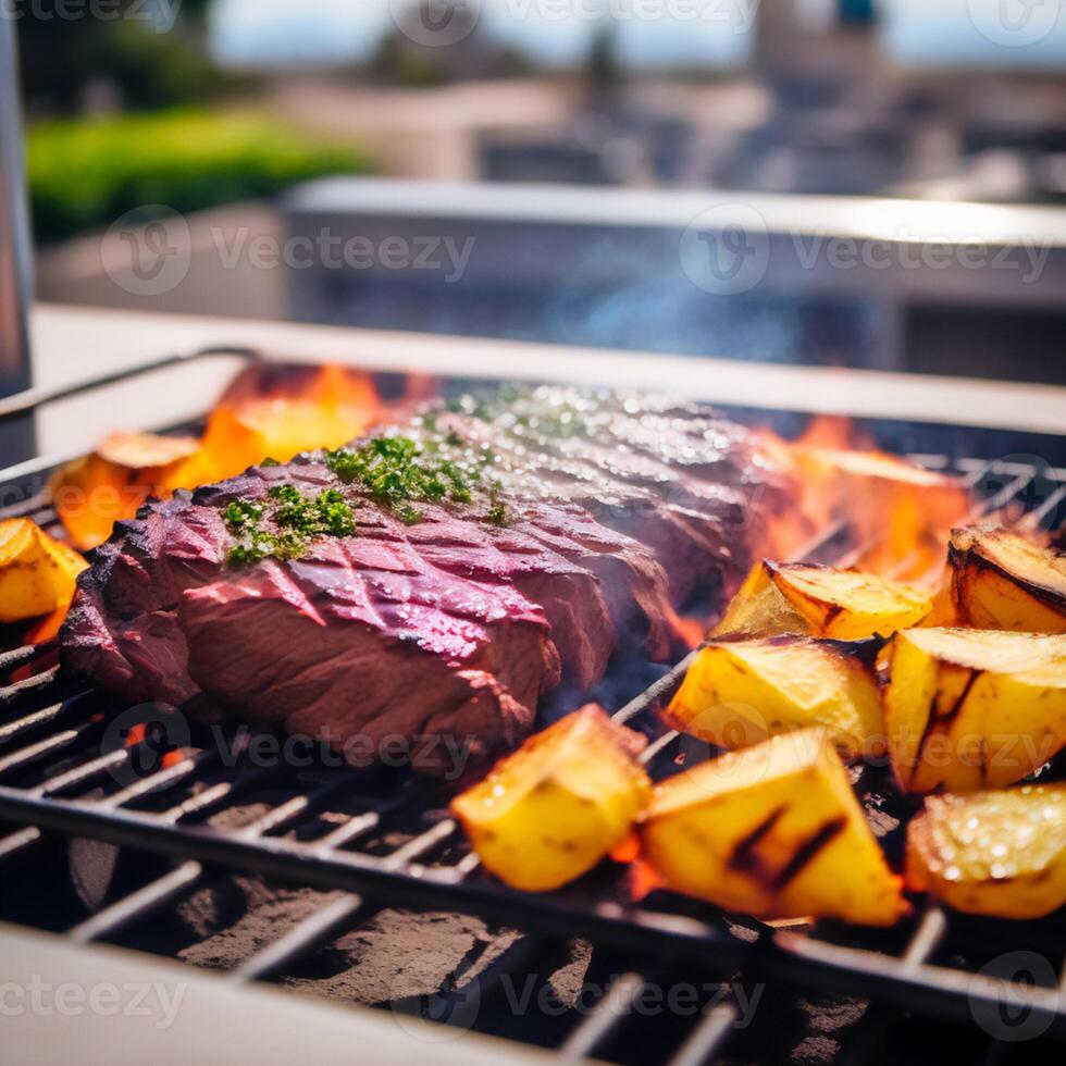
M127 211L103 235L100 259L111 281L131 296L172 293L193 262L189 225L159 203Z

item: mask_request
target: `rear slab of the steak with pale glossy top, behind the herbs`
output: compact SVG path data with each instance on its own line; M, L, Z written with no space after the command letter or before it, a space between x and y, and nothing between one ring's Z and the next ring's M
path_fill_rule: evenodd
M545 386L466 398L404 432L457 458L491 448L509 492L578 504L646 545L682 609L728 598L795 500L747 431L697 405Z

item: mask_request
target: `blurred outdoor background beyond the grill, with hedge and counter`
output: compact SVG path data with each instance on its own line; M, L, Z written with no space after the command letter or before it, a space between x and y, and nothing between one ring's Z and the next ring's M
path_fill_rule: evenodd
M40 299L1066 381L1059 0L7 2Z

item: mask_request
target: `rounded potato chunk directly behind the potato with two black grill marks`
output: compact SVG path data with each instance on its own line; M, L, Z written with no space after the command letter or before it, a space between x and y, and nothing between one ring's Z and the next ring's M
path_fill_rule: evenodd
M846 756L883 755L877 682L856 650L805 636L711 642L697 653L666 716L719 747L821 724Z

